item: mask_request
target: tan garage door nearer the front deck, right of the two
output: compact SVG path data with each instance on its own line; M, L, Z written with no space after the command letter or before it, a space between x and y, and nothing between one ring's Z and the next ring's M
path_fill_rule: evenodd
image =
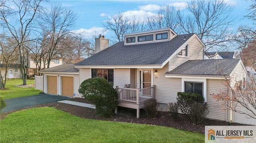
M72 96L74 94L74 77L61 76L61 95Z

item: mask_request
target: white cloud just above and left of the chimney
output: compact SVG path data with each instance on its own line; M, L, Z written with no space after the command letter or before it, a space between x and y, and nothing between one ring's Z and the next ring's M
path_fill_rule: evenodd
M102 27L91 27L90 29L78 29L78 30L74 30L74 33L79 33L81 35L83 35L85 38L92 38L94 35L98 36L99 34L106 34L106 32L104 31L104 28Z

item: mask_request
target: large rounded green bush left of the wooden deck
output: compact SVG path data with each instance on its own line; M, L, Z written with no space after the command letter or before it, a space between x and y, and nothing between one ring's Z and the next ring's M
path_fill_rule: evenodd
M100 116L112 116L118 106L118 94L105 78L94 77L84 80L78 92L95 105Z

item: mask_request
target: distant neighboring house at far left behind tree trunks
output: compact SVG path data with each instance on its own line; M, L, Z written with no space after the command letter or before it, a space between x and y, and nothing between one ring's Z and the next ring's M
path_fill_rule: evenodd
M4 64L0 64L0 70L2 76L5 74L5 68L6 66ZM21 78L21 73L20 73L20 65L19 64L10 64L9 68L7 70L7 75L6 78L11 79L11 78Z

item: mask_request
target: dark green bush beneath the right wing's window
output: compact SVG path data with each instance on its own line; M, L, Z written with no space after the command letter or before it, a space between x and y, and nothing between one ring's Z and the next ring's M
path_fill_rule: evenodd
M209 113L204 97L197 93L178 92L177 103L180 111L188 115L190 120L196 124L202 124L204 118Z

